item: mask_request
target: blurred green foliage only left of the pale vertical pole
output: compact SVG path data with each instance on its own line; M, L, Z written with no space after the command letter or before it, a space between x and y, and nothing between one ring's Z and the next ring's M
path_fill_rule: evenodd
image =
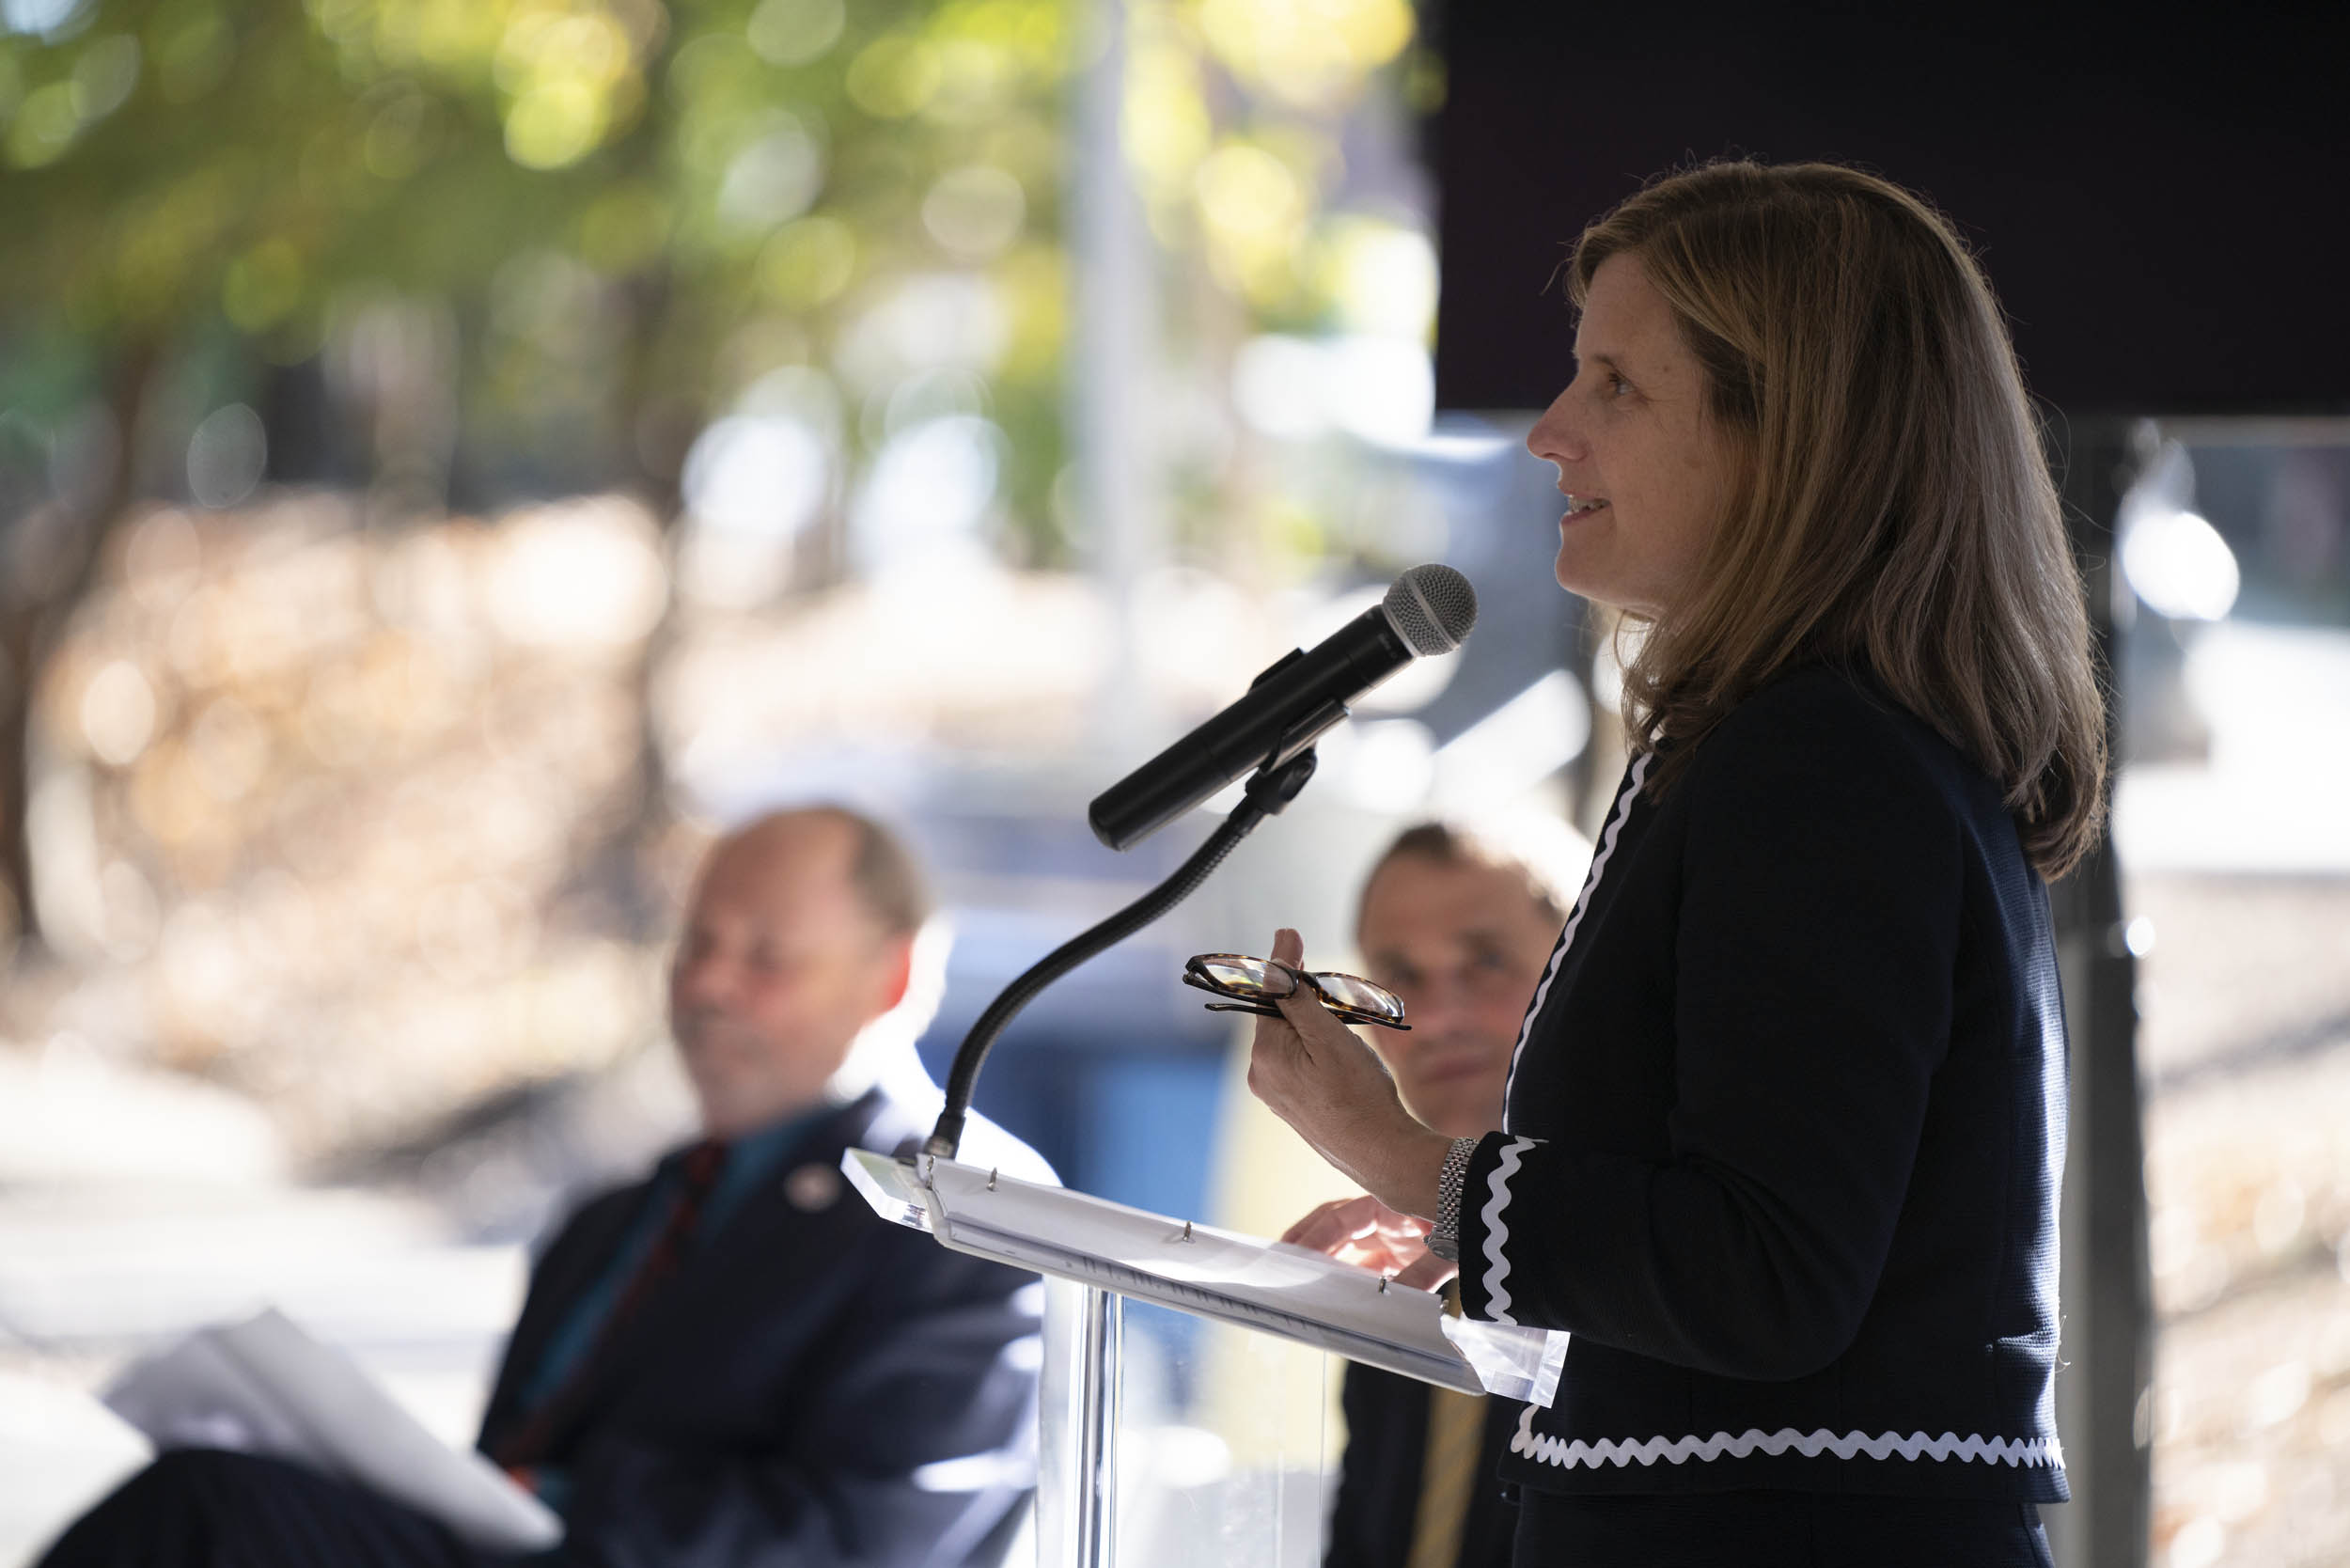
M468 440L545 442L550 407L585 397L602 407L552 421L559 440L674 477L660 430L691 435L778 364L834 364L909 277L978 273L1001 315L987 386L1010 510L1048 512L1067 0L9 0L5 16L19 411L59 402L38 386L92 383L92 355L228 334L294 364L367 299L423 299L465 327ZM552 463L611 477L611 451Z

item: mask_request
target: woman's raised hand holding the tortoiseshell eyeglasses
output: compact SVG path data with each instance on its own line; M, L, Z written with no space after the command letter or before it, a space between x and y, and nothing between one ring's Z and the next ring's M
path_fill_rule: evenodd
M1304 940L1283 926L1271 957L1297 969ZM1248 1088L1386 1208L1434 1220L1436 1173L1452 1140L1403 1110L1386 1067L1311 987L1300 985L1278 1006L1281 1018L1257 1020Z

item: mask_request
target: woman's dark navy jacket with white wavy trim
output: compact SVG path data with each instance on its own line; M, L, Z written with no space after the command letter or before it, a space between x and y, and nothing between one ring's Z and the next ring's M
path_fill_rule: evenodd
M1826 668L1633 762L1462 1187L1462 1305L1567 1328L1502 1474L2061 1502L2066 1037L1998 785Z

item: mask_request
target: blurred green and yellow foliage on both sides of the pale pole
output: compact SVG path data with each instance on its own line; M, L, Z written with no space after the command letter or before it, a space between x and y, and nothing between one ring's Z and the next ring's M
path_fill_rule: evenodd
M1441 66L1408 0L1123 14L1175 531L1217 557L1297 534L1314 557L1356 503L1269 482L1231 364L1262 331L1426 341L1434 249L1396 169ZM183 442L273 367L331 378L390 331L446 404L468 503L634 484L672 515L696 433L808 367L834 487L907 407L980 411L1006 437L999 543L1067 562L1062 186L1095 19L1088 0L0 0L0 421L54 437L87 397L141 418L125 381L169 390L157 367ZM926 371L947 374L893 400ZM407 461L383 428L345 447L369 442L336 477ZM169 428L132 444L150 468L176 449Z

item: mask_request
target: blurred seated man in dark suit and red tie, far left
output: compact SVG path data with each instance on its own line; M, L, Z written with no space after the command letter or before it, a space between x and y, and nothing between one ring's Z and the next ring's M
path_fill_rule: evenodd
M703 1138L578 1208L531 1272L479 1448L566 1526L552 1563L992 1561L1032 1486L1032 1274L846 1190L935 1105L905 1011L921 877L879 825L787 811L703 863L670 1025ZM1048 1180L994 1128L966 1147ZM212 1450L160 1458L47 1563L472 1566L397 1502Z

